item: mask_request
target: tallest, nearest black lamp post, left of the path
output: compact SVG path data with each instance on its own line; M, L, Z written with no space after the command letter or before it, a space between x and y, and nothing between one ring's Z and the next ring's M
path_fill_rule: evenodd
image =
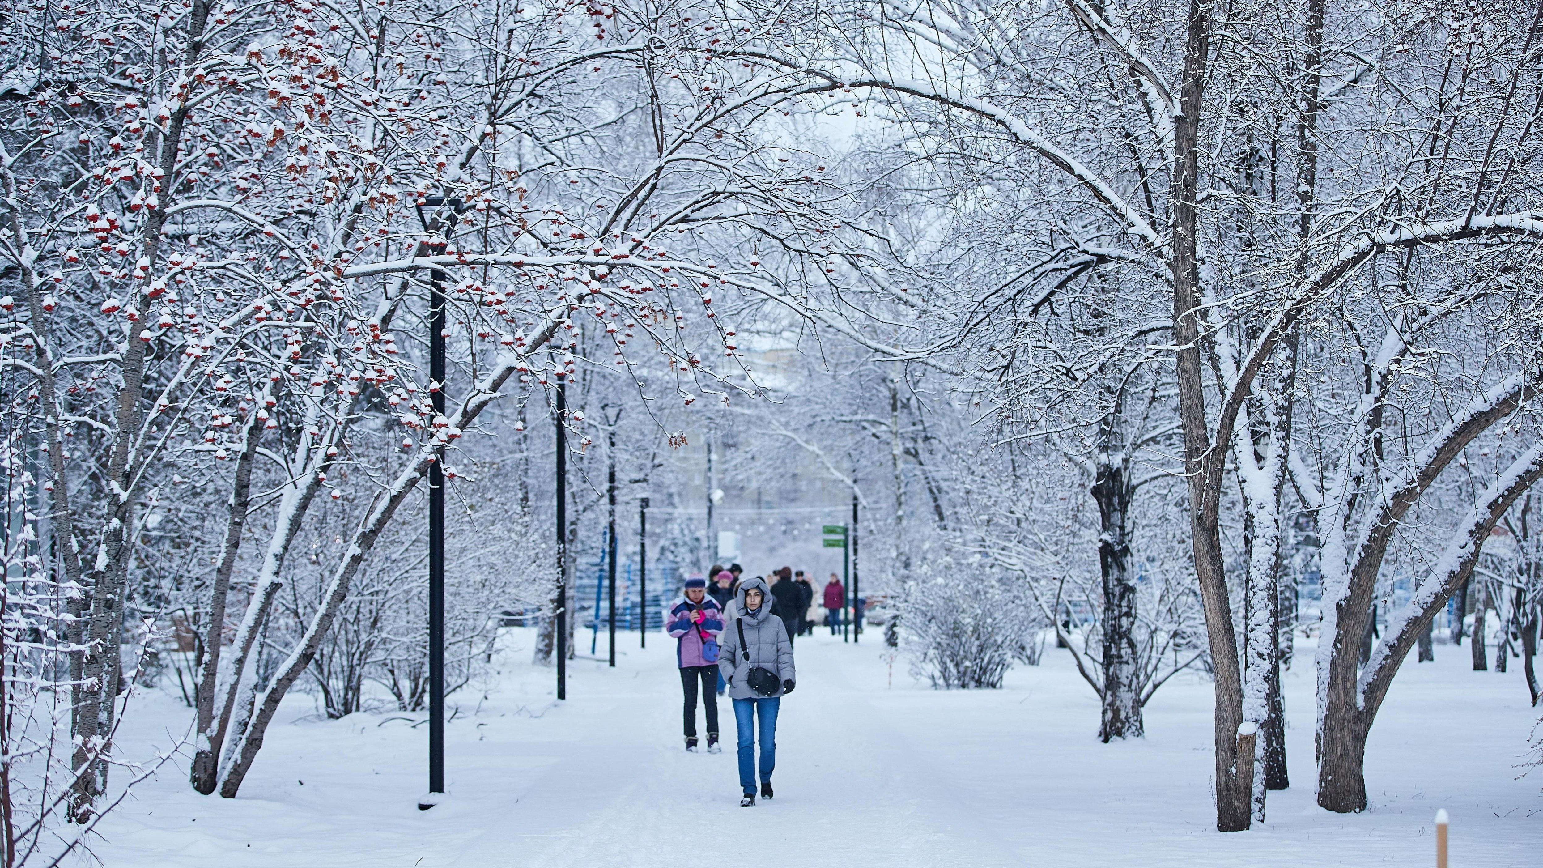
M418 222L424 232L440 232L440 216L426 218L424 207L451 207L458 216L461 199L426 196L418 199ZM454 229L454 219L451 227ZM449 235L446 232L446 235ZM441 236L443 238L443 236ZM430 255L443 255L449 239L423 247ZM444 417L444 270L429 270L429 402L437 419ZM440 803L444 795L444 453L429 465L429 794L418 802L420 811Z

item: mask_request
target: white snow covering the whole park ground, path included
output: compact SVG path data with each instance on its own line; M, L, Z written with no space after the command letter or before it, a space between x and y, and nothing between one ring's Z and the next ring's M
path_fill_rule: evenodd
M1157 693L1145 740L1100 744L1097 700L1063 652L1015 669L1003 690L937 692L904 658L890 684L878 633L864 639L798 641L776 798L753 809L738 806L727 700L724 754L682 751L668 636L647 652L619 639L616 670L574 661L569 698L554 704L551 670L525 663L531 633L509 630L491 689L452 697L444 805L415 808L423 715L327 721L295 697L239 798L194 794L184 757L110 817L96 851L108 868L1416 866L1433 863L1432 817L1447 808L1454 868L1540 863L1543 772L1517 780L1515 768L1535 712L1520 673L1469 672L1466 647L1404 666L1358 815L1313 803L1312 649L1299 647L1285 681L1293 788L1270 794L1262 828L1224 836L1199 676ZM185 721L179 700L151 692L123 743L165 743Z

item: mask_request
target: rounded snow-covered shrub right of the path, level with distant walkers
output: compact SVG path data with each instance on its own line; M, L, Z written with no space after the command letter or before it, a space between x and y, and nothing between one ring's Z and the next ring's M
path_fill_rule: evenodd
M1021 585L988 564L963 573L930 570L906 584L900 618L912 670L938 689L1001 687L1026 655L1035 613Z

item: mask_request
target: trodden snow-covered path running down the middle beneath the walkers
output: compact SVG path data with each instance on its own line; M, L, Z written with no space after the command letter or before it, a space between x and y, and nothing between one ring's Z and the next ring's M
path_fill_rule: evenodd
M728 700L719 700L724 752L687 754L679 680L650 667L583 703L593 709L576 721L583 748L535 782L517 828L488 829L443 863L668 865L694 853L688 829L716 829L725 845L782 842L775 846L807 851L807 863L1017 863L1004 846L992 846L958 794L932 786L904 738L852 689L839 666L850 646L801 641L798 650L807 663L782 704L782 761L773 775L779 795L772 802L739 808ZM958 836L974 840L967 851L949 846Z

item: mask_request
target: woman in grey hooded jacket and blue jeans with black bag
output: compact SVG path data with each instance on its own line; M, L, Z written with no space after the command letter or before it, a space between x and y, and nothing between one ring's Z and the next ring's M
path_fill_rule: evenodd
M734 703L739 748L741 808L756 803L756 727L761 731L761 798L772 798L776 768L776 715L782 697L793 692L793 641L787 626L772 613L772 590L765 581L744 579L734 595L736 618L724 630L717 670L728 681Z

